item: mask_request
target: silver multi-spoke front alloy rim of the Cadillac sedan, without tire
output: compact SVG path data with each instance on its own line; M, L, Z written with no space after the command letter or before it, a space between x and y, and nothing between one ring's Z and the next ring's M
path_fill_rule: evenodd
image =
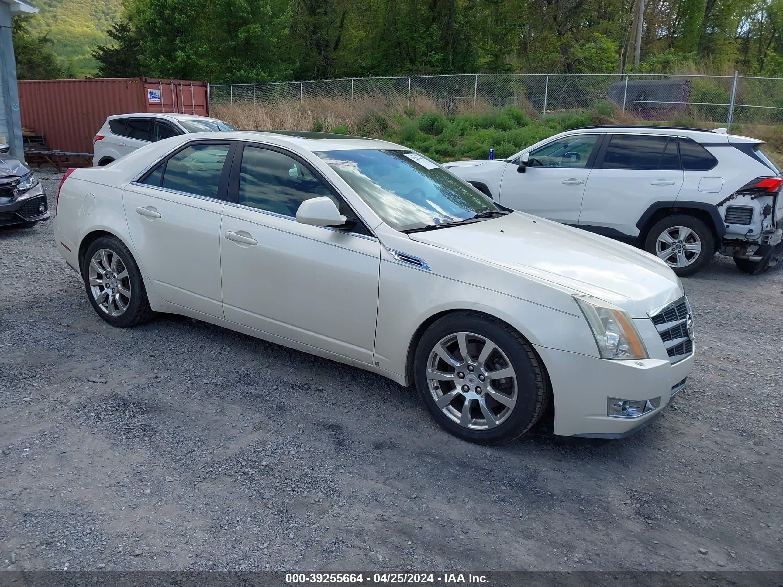
M427 369L428 389L438 408L469 430L503 423L517 402L511 361L489 338L449 334L435 345Z

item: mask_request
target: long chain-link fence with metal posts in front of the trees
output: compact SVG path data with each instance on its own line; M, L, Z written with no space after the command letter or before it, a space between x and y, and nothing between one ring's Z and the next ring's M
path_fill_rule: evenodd
M580 110L622 112L677 126L781 124L783 78L656 74L461 74L363 77L209 86L212 104L366 95L425 95L447 114L482 101L516 104L541 117Z

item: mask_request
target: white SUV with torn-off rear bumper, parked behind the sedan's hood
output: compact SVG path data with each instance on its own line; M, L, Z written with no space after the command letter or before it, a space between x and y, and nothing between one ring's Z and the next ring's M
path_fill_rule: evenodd
M643 247L677 275L718 251L759 273L783 253L783 178L763 144L725 129L587 127L445 167L504 206Z

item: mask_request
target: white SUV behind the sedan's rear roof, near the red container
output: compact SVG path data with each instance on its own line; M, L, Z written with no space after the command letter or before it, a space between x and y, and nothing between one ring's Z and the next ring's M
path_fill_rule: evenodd
M92 166L103 167L150 142L189 132L236 131L232 124L194 114L117 114L106 118L92 139Z

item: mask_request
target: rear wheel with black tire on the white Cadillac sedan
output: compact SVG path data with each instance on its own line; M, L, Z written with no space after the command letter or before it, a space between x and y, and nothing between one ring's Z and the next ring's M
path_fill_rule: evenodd
M81 277L92 308L111 326L128 328L153 317L139 265L116 236L101 236L87 248Z

